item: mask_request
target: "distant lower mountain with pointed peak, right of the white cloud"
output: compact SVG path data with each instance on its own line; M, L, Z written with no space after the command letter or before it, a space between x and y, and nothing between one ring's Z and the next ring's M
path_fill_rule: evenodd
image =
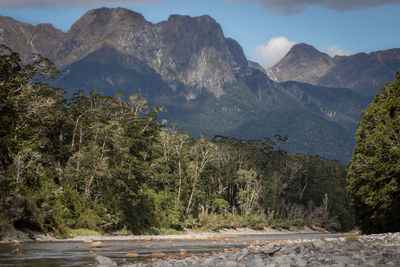
M331 58L307 44L294 45L286 56L267 70L277 82L298 81L350 88L372 99L383 83L400 71L400 49Z

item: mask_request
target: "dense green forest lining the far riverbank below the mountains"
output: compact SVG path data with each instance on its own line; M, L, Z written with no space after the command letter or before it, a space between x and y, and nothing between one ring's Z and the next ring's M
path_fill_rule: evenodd
M196 140L138 95L66 99L38 82L50 61L0 49L0 232L353 227L340 162L288 154L287 136Z

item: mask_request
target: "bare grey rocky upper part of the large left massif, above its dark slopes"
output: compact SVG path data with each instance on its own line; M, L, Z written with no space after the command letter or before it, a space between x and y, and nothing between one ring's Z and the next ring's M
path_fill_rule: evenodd
M221 26L207 15L172 15L152 24L128 9L100 8L88 11L66 33L50 24L34 27L1 17L0 41L24 58L32 53L49 57L60 69L113 47L154 69L173 90L183 84L187 99L203 89L218 98L225 84L236 81L235 72L247 69L240 45L225 39Z

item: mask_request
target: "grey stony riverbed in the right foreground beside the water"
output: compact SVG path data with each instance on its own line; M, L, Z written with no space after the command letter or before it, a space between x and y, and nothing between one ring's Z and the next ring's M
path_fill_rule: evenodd
M105 257L95 260L97 267L117 266ZM269 241L213 255L169 256L125 266L400 266L400 233Z

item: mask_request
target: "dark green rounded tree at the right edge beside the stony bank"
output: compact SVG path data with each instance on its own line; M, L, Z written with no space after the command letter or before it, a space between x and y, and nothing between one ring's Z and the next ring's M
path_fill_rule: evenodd
M351 159L348 192L365 233L400 230L400 73L363 112Z

